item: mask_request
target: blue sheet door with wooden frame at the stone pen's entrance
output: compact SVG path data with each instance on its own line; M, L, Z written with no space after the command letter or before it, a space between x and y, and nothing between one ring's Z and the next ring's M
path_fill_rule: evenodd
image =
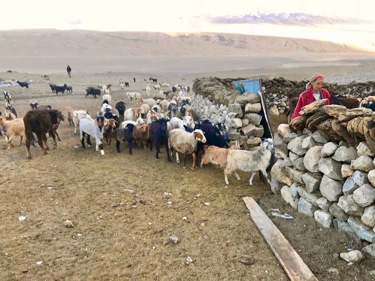
M262 90L262 83L260 78L248 79L248 80L237 80L233 81L234 87L240 91L241 94L245 92L255 93L260 97L261 111L259 115L262 116L260 124L264 128L263 138L272 138L273 133L271 129L270 115L268 113L268 107L264 93Z

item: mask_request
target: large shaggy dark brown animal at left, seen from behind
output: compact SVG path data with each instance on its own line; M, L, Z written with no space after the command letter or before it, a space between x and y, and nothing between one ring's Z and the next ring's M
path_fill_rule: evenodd
M57 146L53 125L58 123L59 114L61 114L61 111L58 111L57 109L50 109L48 111L43 109L32 109L26 113L23 119L25 124L28 159L31 159L30 142L34 139L33 133L35 133L39 146L42 148L44 154L47 154L47 150L49 150L46 133L49 132L51 134L53 146ZM43 142L45 148L43 146Z

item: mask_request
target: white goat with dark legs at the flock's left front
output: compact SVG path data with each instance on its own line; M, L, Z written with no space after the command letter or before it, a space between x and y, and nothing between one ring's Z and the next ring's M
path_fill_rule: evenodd
M104 116L96 117L96 120L91 118L82 118L80 121L80 139L82 147L85 147L85 135L87 135L87 144L91 147L90 136L95 138L96 141L96 151L99 151L104 155L104 149L102 144L103 139L103 129L104 129Z

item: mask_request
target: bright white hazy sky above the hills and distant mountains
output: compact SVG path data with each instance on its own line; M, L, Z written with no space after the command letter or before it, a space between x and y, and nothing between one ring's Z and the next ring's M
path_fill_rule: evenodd
M375 1L357 0L20 0L0 17L0 29L58 28L101 31L199 31L197 15L305 12L340 18L373 19ZM347 5L346 3L350 3ZM20 8L22 7L22 8ZM182 18L182 19L180 19ZM70 24L70 22L82 22Z

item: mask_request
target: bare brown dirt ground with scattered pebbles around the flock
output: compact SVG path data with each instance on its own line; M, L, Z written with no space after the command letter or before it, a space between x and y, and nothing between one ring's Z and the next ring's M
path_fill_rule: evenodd
M94 116L102 99L80 94L87 86L110 82L115 104L127 101L119 78L135 77L137 82L130 82L126 90L142 96L146 96L143 78L148 78L139 73L72 79L56 75L54 83L69 82L75 93L56 96L48 84L37 82L40 76L25 75L17 79L33 80L29 89L5 88L18 117L33 101L54 109L87 109ZM163 81L192 86L191 81L177 78ZM275 131L286 119L272 121ZM27 160L24 141L17 146L17 138L16 146L7 150L5 138L0 139L0 280L288 280L252 223L244 196L254 197L319 280L374 278L368 272L375 263L368 256L348 266L336 254L348 246L353 250L362 246L299 214L258 176L249 187L250 175L240 172L242 181L230 176L226 186L216 167L192 172L175 161L169 164L163 149L156 160L155 151L134 148L129 155L123 144L118 154L114 143L104 148L102 156L95 146L81 148L79 132L73 132L63 122L57 149L43 155L39 146L31 147L32 160ZM51 138L48 143L52 148ZM294 218L273 217L272 208ZM26 220L19 221L20 216ZM65 220L74 227L65 227ZM170 244L169 236L177 236L178 243ZM242 265L243 254L251 255L254 264ZM193 260L188 265L187 257ZM39 261L43 263L36 264ZM338 273L329 273L330 268Z

